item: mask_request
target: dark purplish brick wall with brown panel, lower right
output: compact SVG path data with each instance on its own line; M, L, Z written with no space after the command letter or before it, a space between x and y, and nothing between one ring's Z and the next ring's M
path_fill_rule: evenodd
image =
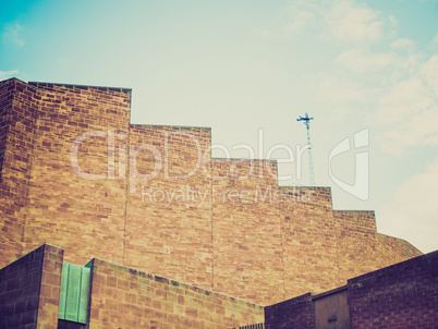
M320 305L318 305L318 303ZM265 307L270 328L437 328L438 252Z

